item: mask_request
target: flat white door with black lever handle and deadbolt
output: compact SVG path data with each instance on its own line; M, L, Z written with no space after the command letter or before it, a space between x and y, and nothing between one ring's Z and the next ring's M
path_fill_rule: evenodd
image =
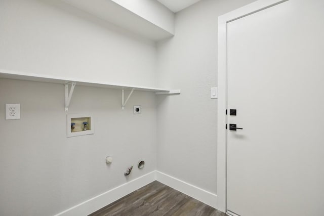
M324 215L323 0L227 24L227 109L227 209Z

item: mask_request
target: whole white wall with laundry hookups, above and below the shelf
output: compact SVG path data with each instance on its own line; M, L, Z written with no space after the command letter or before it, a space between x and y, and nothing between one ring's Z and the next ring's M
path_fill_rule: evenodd
M0 68L154 86L156 47L59 1L0 0ZM96 131L66 138L64 90L0 79L0 215L53 215L156 169L154 93L122 111L120 90L77 85L69 113L92 114ZM21 104L20 120L4 120L6 103Z

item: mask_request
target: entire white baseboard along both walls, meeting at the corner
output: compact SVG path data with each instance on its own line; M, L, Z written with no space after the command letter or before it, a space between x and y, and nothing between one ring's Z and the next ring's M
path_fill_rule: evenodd
M77 204L65 211L62 211L54 216L75 216L75 215L88 215L92 212L99 210L100 208L124 197L137 189L153 182L158 181L163 183L171 188L174 188L188 196L191 196L194 199L204 202L207 205L210 205L216 208L217 204L217 195L210 193L206 190L198 188L196 186L190 185L184 181L176 179L172 176L164 174L160 171L151 171L148 174L141 176L137 179L134 179L128 183L120 185L116 188L113 188L103 194L95 196L85 202Z

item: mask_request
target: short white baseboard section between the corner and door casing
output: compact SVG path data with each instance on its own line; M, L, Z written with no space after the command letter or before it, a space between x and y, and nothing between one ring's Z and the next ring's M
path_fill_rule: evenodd
M184 181L176 179L160 171L156 171L156 180L188 196L191 196L192 198L195 198L200 202L204 202L205 204L216 208L217 205L216 194L213 194L211 192L208 192L196 186L190 185Z

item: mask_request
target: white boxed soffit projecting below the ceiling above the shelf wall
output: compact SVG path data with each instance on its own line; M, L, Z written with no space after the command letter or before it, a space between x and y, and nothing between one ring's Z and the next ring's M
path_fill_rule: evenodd
M174 35L174 14L154 0L61 1L153 41Z

